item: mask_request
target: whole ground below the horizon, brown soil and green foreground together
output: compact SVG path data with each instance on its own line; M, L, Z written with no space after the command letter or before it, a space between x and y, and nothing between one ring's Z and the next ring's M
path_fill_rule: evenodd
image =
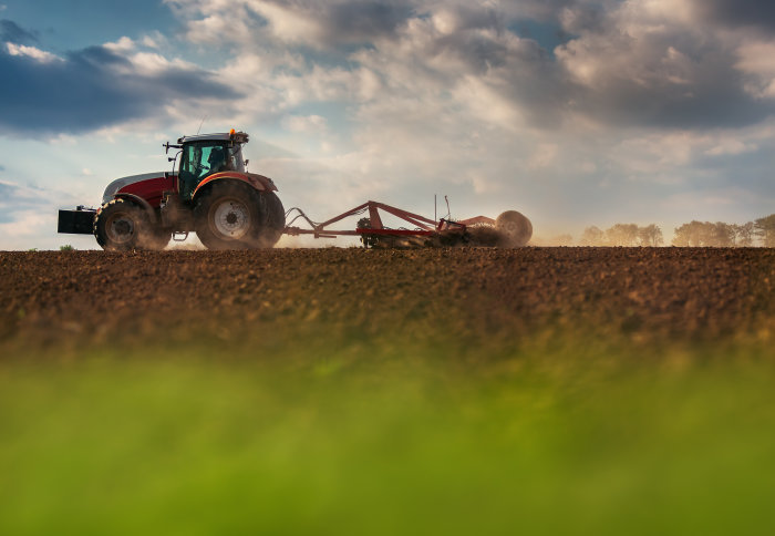
M0 254L0 534L775 534L772 249Z

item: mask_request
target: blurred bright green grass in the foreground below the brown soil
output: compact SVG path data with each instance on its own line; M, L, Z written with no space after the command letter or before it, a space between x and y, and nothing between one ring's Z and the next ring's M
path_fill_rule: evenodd
M0 363L1 534L772 534L756 343Z

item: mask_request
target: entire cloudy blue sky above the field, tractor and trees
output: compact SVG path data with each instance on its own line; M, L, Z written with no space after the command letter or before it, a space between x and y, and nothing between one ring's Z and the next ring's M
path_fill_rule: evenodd
M96 248L56 209L199 128L317 220L775 213L772 0L0 0L0 249Z

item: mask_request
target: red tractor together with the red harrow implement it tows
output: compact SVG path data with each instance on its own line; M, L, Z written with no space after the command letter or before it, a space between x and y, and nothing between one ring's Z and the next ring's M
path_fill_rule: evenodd
M79 206L59 212L59 233L93 234L108 250L163 249L170 239L196 233L209 249L270 248L283 234L316 238L360 236L366 247L405 245L482 245L519 247L533 235L530 221L516 210L496 219L430 219L383 203L366 202L326 221L313 221L300 208L286 212L271 178L246 169L244 132L180 137L166 143L179 166L175 172L132 175L107 185L100 208ZM389 228L381 214L410 227ZM331 226L364 216L355 229ZM290 219L288 225L286 220ZM294 226L306 224L304 227Z

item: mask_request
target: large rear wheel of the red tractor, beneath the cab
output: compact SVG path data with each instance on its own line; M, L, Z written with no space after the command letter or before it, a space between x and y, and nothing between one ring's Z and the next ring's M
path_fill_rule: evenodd
M265 224L259 193L236 181L217 181L194 205L194 230L208 249L260 247Z

